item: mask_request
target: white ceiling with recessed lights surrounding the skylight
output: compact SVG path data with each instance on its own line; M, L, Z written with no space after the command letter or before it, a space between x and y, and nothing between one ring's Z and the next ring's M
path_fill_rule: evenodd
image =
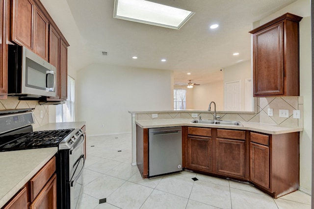
M69 71L105 63L174 70L175 83L199 84L222 80L221 68L250 60L252 24L295 0L151 1L195 14L176 30L114 19L114 0L41 0L70 44ZM212 23L219 28L209 29Z

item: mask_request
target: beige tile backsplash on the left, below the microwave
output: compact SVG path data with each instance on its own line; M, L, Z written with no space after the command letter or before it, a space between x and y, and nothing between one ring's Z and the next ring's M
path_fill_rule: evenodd
M0 110L26 109L35 108L33 110L34 122L33 128L40 127L49 123L49 114L47 105L39 105L38 101L19 100L17 97L8 97L0 100ZM42 111L42 117L40 112Z

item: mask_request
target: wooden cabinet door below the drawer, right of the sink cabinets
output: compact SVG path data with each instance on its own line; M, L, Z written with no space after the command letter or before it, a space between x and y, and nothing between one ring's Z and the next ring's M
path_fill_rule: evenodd
M269 147L250 143L250 179L269 189Z

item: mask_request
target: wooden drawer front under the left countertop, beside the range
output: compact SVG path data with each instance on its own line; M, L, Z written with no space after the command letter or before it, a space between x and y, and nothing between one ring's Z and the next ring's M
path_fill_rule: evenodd
M30 202L38 195L55 171L55 157L42 167L31 180L29 180Z

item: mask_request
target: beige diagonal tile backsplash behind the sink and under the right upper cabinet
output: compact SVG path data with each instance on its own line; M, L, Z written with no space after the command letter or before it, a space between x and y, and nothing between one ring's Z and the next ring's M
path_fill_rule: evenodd
M268 108L273 109L273 116L268 116ZM279 110L288 110L289 116L279 117ZM293 110L300 110L300 119L293 118ZM153 119L174 119L174 118L195 118L192 113L197 113L202 119L212 119L213 114L207 111L162 111L156 112L157 118L152 117L152 112L138 113L136 120L153 120ZM246 122L261 122L272 125L281 125L289 127L303 127L303 97L302 96L283 96L283 97L261 97L254 98L254 114L245 112L230 113L223 111L217 112L221 120L235 120Z

